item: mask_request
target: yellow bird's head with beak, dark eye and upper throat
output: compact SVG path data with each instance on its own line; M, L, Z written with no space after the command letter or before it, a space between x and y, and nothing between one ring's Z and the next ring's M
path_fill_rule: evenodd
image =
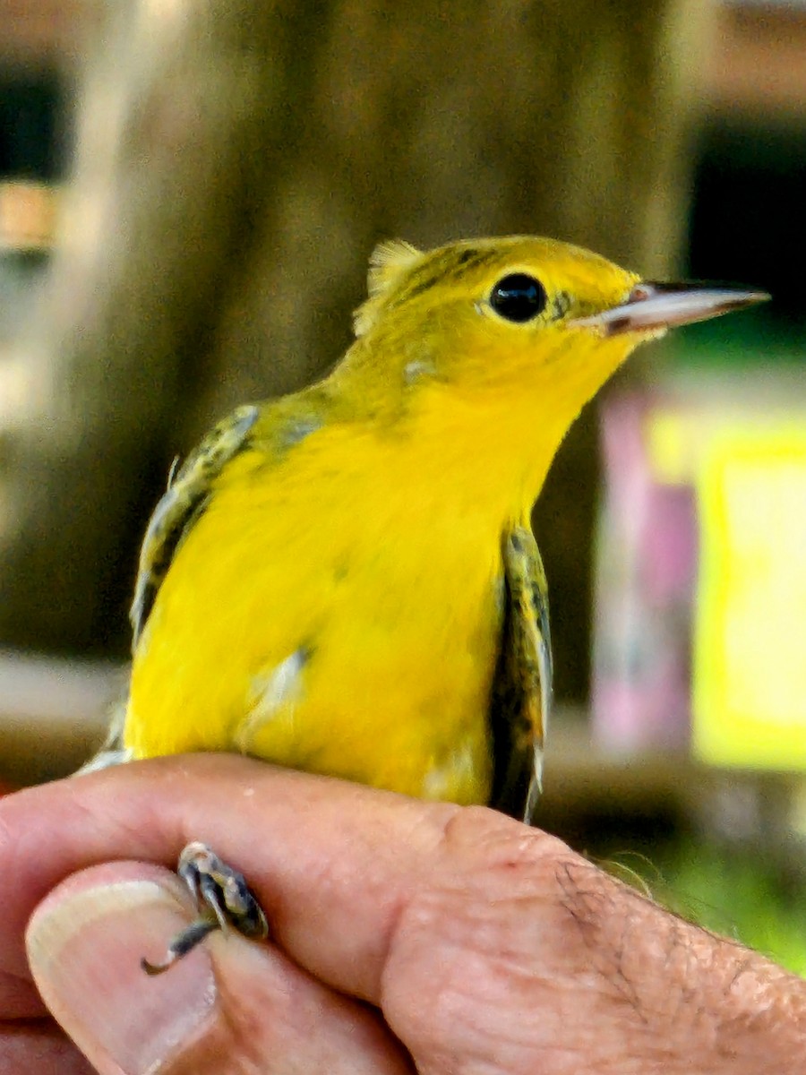
M345 366L422 430L452 425L543 447L548 465L581 406L636 345L768 296L660 284L588 250L515 235L423 253L400 241L372 255ZM535 438L535 424L541 435Z

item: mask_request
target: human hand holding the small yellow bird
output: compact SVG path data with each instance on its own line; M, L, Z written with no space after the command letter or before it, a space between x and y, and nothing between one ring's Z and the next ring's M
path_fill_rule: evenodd
M273 942L213 934L148 978L192 915L165 869L191 838ZM806 983L559 841L243 758L4 800L0 906L2 1075L806 1071Z

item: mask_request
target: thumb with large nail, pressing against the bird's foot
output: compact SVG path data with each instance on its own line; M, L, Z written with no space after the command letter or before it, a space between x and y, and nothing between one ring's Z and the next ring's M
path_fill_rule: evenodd
M212 936L160 978L140 958L193 908L164 870L121 862L58 886L28 928L30 965L101 1075L255 1070L411 1075L377 1013L270 945Z

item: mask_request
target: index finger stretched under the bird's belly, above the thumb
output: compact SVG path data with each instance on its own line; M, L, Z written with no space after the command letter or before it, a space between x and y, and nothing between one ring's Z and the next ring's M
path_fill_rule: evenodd
M158 759L33 789L0 803L9 922L0 968L25 975L25 922L67 875L115 858L172 866L198 838L247 876L273 935L298 962L378 1003L404 908L434 872L467 865L456 861L466 848L446 837L460 813L225 755ZM510 855L513 842L555 844L493 812L475 816L485 862Z

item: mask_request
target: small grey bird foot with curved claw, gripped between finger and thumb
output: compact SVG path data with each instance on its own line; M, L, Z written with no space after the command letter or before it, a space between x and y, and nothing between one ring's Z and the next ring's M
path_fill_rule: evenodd
M262 941L269 935L269 922L242 874L207 847L195 841L179 856L176 869L199 908L199 916L181 930L168 945L159 963L141 959L146 974L162 974L187 956L214 930L238 930L245 937Z

